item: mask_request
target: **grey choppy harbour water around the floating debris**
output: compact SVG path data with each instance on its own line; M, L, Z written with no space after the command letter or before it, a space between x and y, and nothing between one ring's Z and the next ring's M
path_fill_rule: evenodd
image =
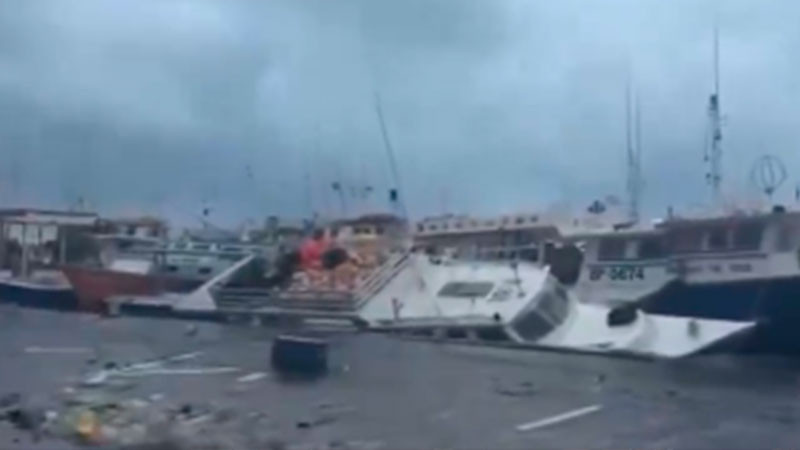
M85 355L25 354L30 345L85 346L99 361L116 362L201 351L208 364L243 373L271 371L273 332L201 323L188 336L185 326L0 308L0 393L22 392L57 406L54 393L87 370ZM259 431L264 439L300 447L369 442L382 448L791 448L800 442L800 359L645 362L375 335L330 339L332 371L317 381L269 377L234 392L241 374L153 376L137 379L130 395L158 392L167 402L215 402L240 415L261 411L270 420ZM297 422L321 402L346 404L352 412L313 430L298 429ZM517 430L594 405L599 410L584 417ZM11 446L12 435L0 431L0 447ZM219 439L226 439L224 433Z

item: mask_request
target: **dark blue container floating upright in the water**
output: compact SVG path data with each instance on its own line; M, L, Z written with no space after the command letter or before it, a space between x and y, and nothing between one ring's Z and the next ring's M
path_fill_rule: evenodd
M272 344L272 367L298 375L324 374L328 370L328 343L304 336L278 336Z

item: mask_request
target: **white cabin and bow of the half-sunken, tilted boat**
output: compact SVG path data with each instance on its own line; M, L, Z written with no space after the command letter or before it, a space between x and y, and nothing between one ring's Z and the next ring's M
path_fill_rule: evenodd
M756 325L584 304L546 267L422 254L410 255L404 268L365 300L358 314L379 330L660 358L733 344Z

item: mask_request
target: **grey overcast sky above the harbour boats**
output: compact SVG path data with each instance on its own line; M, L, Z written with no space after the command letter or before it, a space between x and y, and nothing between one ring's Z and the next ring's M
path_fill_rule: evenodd
M789 0L0 0L0 202L83 196L176 220L208 204L233 223L336 212L340 180L374 186L377 208L393 184L379 93L412 215L583 209L624 195L630 77L646 212L695 205L709 198L715 17L726 191L751 190L770 153L791 199L798 13Z

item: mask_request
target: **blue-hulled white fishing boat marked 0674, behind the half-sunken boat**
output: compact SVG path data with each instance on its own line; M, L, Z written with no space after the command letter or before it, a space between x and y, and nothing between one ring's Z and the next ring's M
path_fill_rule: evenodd
M672 218L575 239L585 249L575 291L589 303L754 320L753 350L800 351L800 212Z

